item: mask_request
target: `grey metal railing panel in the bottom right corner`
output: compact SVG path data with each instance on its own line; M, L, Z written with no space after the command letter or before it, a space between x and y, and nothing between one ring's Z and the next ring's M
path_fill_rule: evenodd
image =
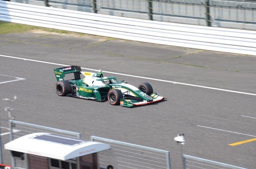
M184 169L246 169L190 155L182 155L182 157Z

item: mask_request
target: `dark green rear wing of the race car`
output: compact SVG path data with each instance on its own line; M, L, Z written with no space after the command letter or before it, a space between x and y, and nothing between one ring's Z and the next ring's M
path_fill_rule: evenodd
M55 77L57 81L64 80L65 74L74 73L75 79L80 79L80 66L68 66L54 69Z

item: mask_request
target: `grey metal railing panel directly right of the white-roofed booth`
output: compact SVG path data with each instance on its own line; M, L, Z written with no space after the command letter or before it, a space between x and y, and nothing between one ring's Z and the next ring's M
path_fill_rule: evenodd
M101 168L111 164L115 169L171 169L169 151L96 136L91 140L111 145L110 150L98 153Z

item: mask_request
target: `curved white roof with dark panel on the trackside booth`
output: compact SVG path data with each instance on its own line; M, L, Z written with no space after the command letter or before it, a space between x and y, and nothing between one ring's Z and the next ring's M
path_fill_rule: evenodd
M67 160L108 150L110 145L50 133L33 133L10 141L4 145L4 148L27 154Z

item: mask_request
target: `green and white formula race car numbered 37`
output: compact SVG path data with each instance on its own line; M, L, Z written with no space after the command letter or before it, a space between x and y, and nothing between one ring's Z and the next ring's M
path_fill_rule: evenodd
M132 107L155 103L164 99L153 92L149 83L139 87L118 81L116 77L103 77L103 72L84 72L80 66L68 66L54 69L57 83L55 91L59 96L71 96L82 99L108 101L112 105ZM65 74L73 73L74 79L64 80ZM81 78L82 76L82 78Z

